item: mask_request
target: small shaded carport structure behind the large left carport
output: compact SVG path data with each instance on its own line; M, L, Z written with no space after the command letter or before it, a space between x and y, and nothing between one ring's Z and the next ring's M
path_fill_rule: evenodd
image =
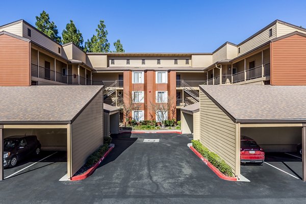
M119 114L119 108L104 104L104 137L119 133Z

